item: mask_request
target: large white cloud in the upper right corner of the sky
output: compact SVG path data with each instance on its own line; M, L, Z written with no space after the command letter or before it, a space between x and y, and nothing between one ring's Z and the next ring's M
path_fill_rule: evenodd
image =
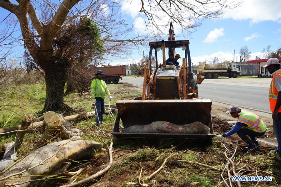
M281 20L281 1L280 0L247 0L242 2L239 7L226 9L223 18L232 18L233 20L247 20L251 23L261 21Z

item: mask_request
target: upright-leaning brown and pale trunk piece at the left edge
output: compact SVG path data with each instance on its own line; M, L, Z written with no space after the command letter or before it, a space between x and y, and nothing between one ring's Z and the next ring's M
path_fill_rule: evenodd
M18 148L23 143L23 138L25 134L25 129L30 125L30 120L26 117L23 118L22 125L20 131L18 132L18 136L16 137L16 142L11 142L8 144L3 144L3 148L5 149L5 153L3 155L2 160L0 161L0 172L8 168L12 165L17 158Z

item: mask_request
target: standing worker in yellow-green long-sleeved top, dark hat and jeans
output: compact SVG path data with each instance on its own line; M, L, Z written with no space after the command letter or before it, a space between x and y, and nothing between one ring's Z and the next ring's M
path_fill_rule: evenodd
M108 87L106 86L105 81L102 80L104 75L105 74L102 70L98 70L98 72L96 73L96 79L94 79L91 84L92 99L95 105L97 126L102 124L103 121L105 93L108 95L109 100L112 101L112 96L109 93Z

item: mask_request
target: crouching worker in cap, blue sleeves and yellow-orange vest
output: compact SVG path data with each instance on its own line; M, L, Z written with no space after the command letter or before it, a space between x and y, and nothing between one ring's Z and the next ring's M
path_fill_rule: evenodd
M243 148L244 151L258 150L259 144L256 137L263 136L266 132L263 120L252 112L241 110L238 106L231 106L226 113L230 113L233 118L238 118L238 120L230 131L218 135L218 139L237 133L248 144L247 147Z

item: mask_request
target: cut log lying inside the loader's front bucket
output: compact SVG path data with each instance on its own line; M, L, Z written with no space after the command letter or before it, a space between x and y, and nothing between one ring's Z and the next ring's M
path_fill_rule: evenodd
M175 125L167 121L154 121L148 125L133 125L123 128L125 133L173 133L173 134L208 134L210 128L199 121L186 125Z

